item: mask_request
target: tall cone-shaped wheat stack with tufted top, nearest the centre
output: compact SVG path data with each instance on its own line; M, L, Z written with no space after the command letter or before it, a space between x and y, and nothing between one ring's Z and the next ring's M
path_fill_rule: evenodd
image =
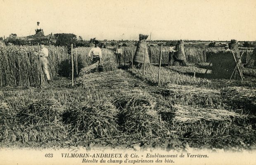
M137 45L137 49L135 51L135 55L133 57L133 64L134 65L141 65L144 64L144 58L145 58L145 64L149 64L149 52L147 47L147 37L148 35L142 35L140 34L140 40Z

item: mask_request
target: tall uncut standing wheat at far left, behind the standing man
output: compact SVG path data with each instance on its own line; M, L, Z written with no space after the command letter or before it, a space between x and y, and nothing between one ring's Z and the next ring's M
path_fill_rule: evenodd
M64 47L47 46L50 77L54 78L66 59ZM40 62L37 46L0 48L0 87L40 85ZM43 78L44 80L44 78Z

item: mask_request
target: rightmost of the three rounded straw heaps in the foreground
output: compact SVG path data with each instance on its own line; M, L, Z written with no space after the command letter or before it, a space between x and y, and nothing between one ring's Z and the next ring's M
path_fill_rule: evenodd
M156 111L156 101L147 92L134 90L114 101L121 111L119 124L123 131L133 133L133 137L152 137L165 129L165 123Z

